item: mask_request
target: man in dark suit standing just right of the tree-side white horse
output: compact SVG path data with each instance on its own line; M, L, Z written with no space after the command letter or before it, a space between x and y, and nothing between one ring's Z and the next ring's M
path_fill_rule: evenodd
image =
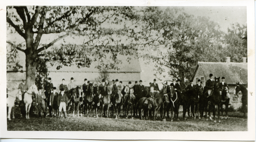
M35 95L35 102L36 102L36 106L38 108L38 115L39 115L39 117L41 117L41 109L42 109L43 113L44 113L44 118L45 118L46 106L45 106L44 99L46 99L46 96L44 95L44 91L41 86L38 87L38 93L39 94Z

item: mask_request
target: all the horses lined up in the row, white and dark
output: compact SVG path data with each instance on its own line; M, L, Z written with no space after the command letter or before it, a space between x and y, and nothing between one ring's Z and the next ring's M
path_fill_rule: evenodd
M226 105L225 115L227 117L227 108L229 105L228 96L220 95L219 81L220 77L216 78L214 81L214 89L212 90L212 95L209 97L207 91L203 93L200 87L193 87L191 90L183 91L182 93L176 92L174 87L167 84L163 84L163 89L157 91L155 96L148 99L148 93L150 92L149 87L145 87L145 91L139 94L137 93L134 97L132 88L128 86L128 93L123 93L121 88L118 88L117 93L112 93L113 84L108 85L108 89L105 95L99 94L98 87L93 85L93 83L88 84L88 91L86 94L81 92L81 86L77 86L69 90L67 93L68 103L67 103L67 116L69 116L70 109L73 110L73 116L85 116L89 117L99 117L98 111L101 111L101 117L115 117L119 119L121 109L124 112L124 116L127 119L129 113L131 118L138 117L147 120L151 117L156 120L157 113L160 111L160 118L162 121L166 121L167 117L173 121L176 119L179 121L179 108L183 106L183 119L186 119L186 112L190 117L190 108L192 117L201 119L202 117L208 117L212 120L211 111L213 112L213 119L215 121L216 109L218 107L218 117L220 117L220 110L223 115L223 105ZM239 83L236 84L236 95L239 91L242 92L242 103L243 106L247 105L247 89ZM125 88L126 89L126 88ZM37 87L32 85L29 90L24 95L24 103L26 107L26 119L29 119L29 109L32 104L32 95L38 94ZM21 93L17 90L8 93L7 107L9 107L8 119L10 120L10 114L12 107L15 104L15 100L21 100ZM151 107L149 107L149 105ZM207 109L208 108L208 109ZM109 110L111 110L109 112ZM171 117L169 116L169 111L171 110ZM93 115L92 115L93 111ZM204 115L205 112L205 115ZM207 114L208 112L208 114ZM114 115L115 113L115 115ZM138 114L139 113L139 114ZM13 115L14 116L14 115Z

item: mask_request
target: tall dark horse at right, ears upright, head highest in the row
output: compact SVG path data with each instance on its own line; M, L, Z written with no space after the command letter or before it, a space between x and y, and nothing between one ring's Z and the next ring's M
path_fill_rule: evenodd
M211 110L213 110L213 119L214 119L214 122L216 122L215 120L215 115L216 115L216 109L215 109L215 106L217 105L218 106L218 118L220 118L220 105L221 105L221 94L220 94L220 87L219 87L219 84L220 84L220 77L215 78L215 81L214 81L214 89L213 89L213 92L212 92L212 96L210 96L210 105L209 105L209 119L212 120L212 117L211 117Z

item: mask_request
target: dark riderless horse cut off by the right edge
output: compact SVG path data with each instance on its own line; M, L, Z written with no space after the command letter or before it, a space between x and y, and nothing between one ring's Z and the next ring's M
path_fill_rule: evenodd
M244 117L246 116L247 113L247 103L248 103L248 91L247 88L244 85L239 84L239 82L236 83L236 87L235 87L236 92L234 94L236 94L236 96L238 96L239 91L241 91L242 93L242 108L241 110L244 113Z

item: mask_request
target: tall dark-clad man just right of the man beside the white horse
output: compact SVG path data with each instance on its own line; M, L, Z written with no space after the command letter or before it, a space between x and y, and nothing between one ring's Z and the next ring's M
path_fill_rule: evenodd
M52 84L52 78L48 78L46 85L44 86L44 90L45 90L45 96L46 99L45 101L47 102L47 107L49 108L49 116L52 117L52 107L49 106L50 103L50 95L53 92L53 84Z

